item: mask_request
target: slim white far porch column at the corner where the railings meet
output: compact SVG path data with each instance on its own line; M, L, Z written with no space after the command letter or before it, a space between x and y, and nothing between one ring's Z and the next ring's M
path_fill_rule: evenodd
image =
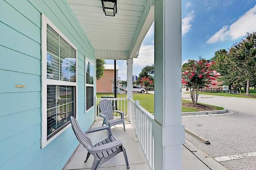
M127 59L127 99L133 99L133 59ZM127 105L127 120L130 121L130 105Z

